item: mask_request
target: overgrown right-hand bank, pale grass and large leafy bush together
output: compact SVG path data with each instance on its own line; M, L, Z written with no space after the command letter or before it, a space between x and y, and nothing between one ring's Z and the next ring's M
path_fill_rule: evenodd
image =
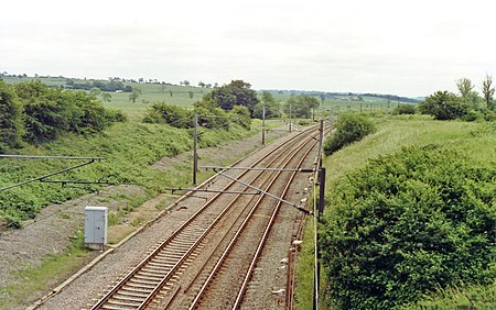
M463 290L470 284L494 297L496 150L488 147L496 142L494 124L419 117L376 121L376 134L325 159L331 180L326 226L321 226L326 308L401 308L440 287ZM425 150L428 144L436 146ZM411 145L410 153L401 151ZM387 154L397 155L368 162ZM411 167L401 170L405 163ZM408 217L403 223L412 226L400 226ZM308 274L304 266L300 273ZM298 300L308 309L312 277L300 278Z

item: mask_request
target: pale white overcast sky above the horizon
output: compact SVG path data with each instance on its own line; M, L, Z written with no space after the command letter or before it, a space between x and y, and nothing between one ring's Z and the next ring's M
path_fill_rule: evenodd
M493 3L4 1L0 71L421 97L495 76Z

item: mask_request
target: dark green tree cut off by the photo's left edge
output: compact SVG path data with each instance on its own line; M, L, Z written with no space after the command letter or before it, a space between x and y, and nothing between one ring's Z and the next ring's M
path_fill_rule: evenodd
M22 107L12 88L0 80L0 153L19 147L23 133Z

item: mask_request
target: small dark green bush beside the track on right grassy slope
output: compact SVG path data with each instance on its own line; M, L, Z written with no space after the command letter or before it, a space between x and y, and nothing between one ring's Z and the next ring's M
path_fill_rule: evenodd
M374 123L365 117L343 114L337 120L336 132L325 142L324 153L325 155L331 155L375 131L376 128Z

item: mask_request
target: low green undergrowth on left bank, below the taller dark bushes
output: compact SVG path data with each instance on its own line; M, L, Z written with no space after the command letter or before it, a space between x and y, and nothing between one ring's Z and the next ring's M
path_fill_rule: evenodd
M214 146L241 139L257 132L259 122L251 130L231 125L226 130L204 130L200 147ZM182 173L152 168L150 165L163 156L173 156L188 151L193 145L192 130L175 129L164 124L139 122L116 123L100 134L78 136L67 134L62 139L40 146L26 146L19 151L30 155L65 155L105 157L60 178L76 180L100 180L112 184L132 184L143 187L150 195L163 192L166 186L184 186L191 182L191 167L177 167ZM22 181L43 174L74 165L61 160L1 159L0 186ZM10 225L20 225L22 220L35 217L48 203L57 203L84 192L95 186L67 186L33 182L7 190L0 195L0 218Z

